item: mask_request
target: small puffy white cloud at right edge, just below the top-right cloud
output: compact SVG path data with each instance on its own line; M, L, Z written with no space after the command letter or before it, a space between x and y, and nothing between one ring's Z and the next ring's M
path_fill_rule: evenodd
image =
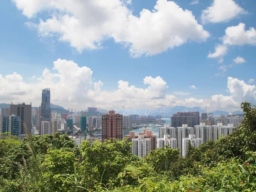
M221 38L226 45L256 45L256 30L250 27L245 30L245 24L239 23L237 26L227 27L225 35Z

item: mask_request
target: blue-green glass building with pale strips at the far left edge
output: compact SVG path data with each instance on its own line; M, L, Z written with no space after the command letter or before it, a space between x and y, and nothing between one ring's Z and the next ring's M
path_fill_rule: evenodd
M21 134L20 116L10 115L3 116L2 133L10 132L12 135L19 137Z

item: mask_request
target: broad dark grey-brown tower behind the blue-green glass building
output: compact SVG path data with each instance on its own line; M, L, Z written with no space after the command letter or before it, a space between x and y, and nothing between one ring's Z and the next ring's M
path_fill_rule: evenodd
M21 119L21 134L26 134L26 127L29 134L31 133L31 121L32 121L32 106L22 104L11 104L10 113L15 116L20 116Z

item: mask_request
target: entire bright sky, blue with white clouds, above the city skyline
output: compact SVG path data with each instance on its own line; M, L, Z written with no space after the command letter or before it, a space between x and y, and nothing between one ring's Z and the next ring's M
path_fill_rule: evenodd
M25 100L39 105L43 87L51 88L55 104L77 109L91 105L100 108L121 108L125 105L126 108L152 109L175 105L204 108L207 105L212 110L232 111L239 109L241 101L256 102L253 81L256 71L256 34L255 29L252 29L256 28L255 0L227 0L224 5L220 5L220 0L198 0L195 4L191 4L192 0L177 0L172 2L172 6L166 0L105 1L107 3L97 0L95 5L89 1L79 5L78 0L66 0L63 6L58 5L58 1L1 2L0 74L3 78L0 82L3 82L0 85L0 102L10 102L12 99L13 102ZM73 8L70 8L70 2ZM106 5L108 3L111 5ZM156 3L159 5L158 10L154 9ZM76 12L76 5L89 8ZM183 10L178 12L176 6ZM219 9L219 6L225 9ZM202 13L207 8L209 12L203 19ZM102 11L108 9L109 12ZM111 9L118 10L111 15ZM143 16L148 22L138 21L143 9L148 9ZM191 15L185 9L191 11ZM176 11L179 16L175 15ZM122 15L122 12L126 12L126 15ZM154 17L154 13L159 15ZM120 19L116 19L118 14ZM64 15L68 15L68 22L63 21ZM74 21L72 18L79 22L77 29L71 23ZM59 26L48 22L50 20ZM102 24L102 20L108 25ZM245 25L242 34L239 33L239 23ZM123 27L125 25L128 27ZM202 28L197 29L198 26ZM233 33L226 35L225 39L220 39L231 26L237 28L230 30ZM64 41L60 40L64 34L69 35ZM233 37L234 34L236 37ZM162 35L163 41L161 38L157 40L159 35ZM177 38L177 41L172 38ZM224 46L226 54L222 51L214 55L217 45ZM165 46L167 48L163 48ZM135 49L135 56L131 49ZM209 52L213 54L212 58L209 58ZM241 57L240 62L236 63L234 59L238 56ZM67 73L62 80L58 79L61 79L59 69L65 65L58 64L59 68L52 70L53 62L59 58L73 61L74 66L78 65L75 71ZM221 60L223 62L219 62ZM84 66L93 71L92 75L88 71L76 74ZM45 68L50 70L52 79L42 77ZM18 81L5 78L14 72L18 74L18 77L15 76ZM85 81L79 74L90 78L84 78ZM149 76L153 80L148 84L143 83L143 79ZM156 80L157 76L162 80ZM228 77L232 79L228 81ZM129 84L118 91L120 80L128 81ZM99 81L100 88L96 90ZM17 87L19 94L8 90L12 83L17 82L20 84ZM130 87L132 85L135 87ZM189 87L192 85L196 89ZM244 94L236 94L241 91ZM214 95L215 98L212 98Z

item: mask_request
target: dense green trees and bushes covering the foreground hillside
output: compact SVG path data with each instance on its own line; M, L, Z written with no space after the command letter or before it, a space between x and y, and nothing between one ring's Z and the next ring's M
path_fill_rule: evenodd
M139 158L127 140L81 148L67 135L8 133L0 140L0 191L250 192L256 191L256 109L242 103L241 127L185 158L165 147Z

